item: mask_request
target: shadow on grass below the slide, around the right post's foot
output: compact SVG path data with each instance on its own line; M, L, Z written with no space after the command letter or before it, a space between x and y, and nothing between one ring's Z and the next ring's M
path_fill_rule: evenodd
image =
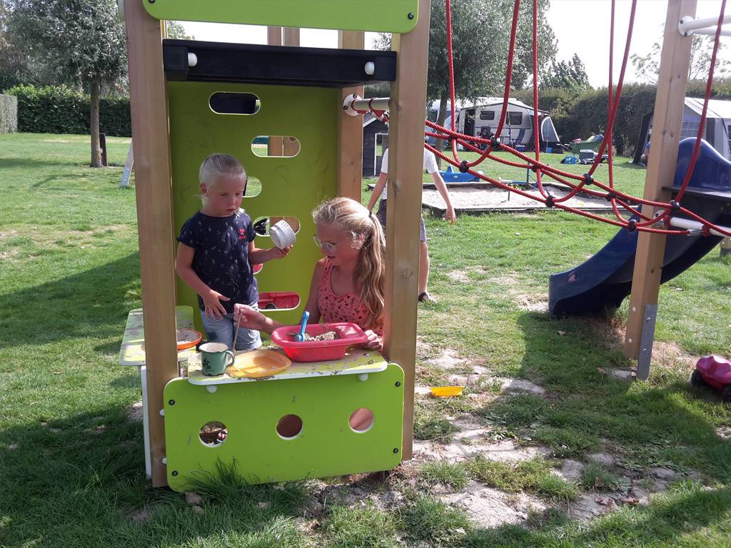
M518 376L546 393L506 393L480 414L508 429L530 428L532 439L557 457L603 449L616 451L626 465L694 468L730 482L731 441L704 416L708 406L723 414L723 404L690 387L681 373L656 368L649 383L601 373L629 368L603 322L520 315L526 349Z

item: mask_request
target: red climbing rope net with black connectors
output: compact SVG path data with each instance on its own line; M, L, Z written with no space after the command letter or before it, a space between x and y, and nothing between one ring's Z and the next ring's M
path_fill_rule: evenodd
M599 151L596 154L596 158L591 164L591 167L589 168L588 172L586 172L584 175L577 175L575 173L570 173L564 170L560 170L556 167L550 166L549 164L545 164L542 161L540 161L540 146L539 146L539 132L534 132L534 157L531 158L530 156L521 153L515 148L510 147L509 145L504 144L499 139L499 136L501 134L501 131L503 129L503 125L505 123L505 118L507 115L507 104L508 99L510 97L510 81L512 77L512 64L513 64L513 57L515 53L515 39L518 31L518 16L520 11L520 0L515 0L515 4L513 7L512 12L512 26L510 29L510 50L508 53L507 58L507 70L505 74L505 88L504 88L504 94L503 94L503 105L502 105L502 112L500 115L500 119L498 122L498 126L493 134L492 138L483 138L483 137L474 137L472 135L466 135L463 133L455 132L452 129L447 129L444 126L439 126L436 123L433 123L431 121L426 121L426 125L428 128L430 128L432 131L425 132L425 135L428 137L435 137L436 139L442 139L442 140L450 140L452 145L452 154L451 156L447 156L447 154L444 154L444 152L437 150L431 145L425 144L425 148L432 151L436 156L439 156L439 158L443 159L444 161L447 161L449 164L452 164L452 166L458 167L461 172L469 172L474 177L477 177L481 180L485 180L488 183L491 183L493 186L496 186L498 188L509 190L511 192L515 192L515 194L520 194L520 196L536 200L537 202L541 202L548 208L557 208L560 210L568 211L569 213L575 213L580 216L584 216L587 218L594 219L596 221L601 221L604 223L609 223L616 225L617 227L626 228L630 231L641 231L641 232L652 232L656 234L675 234L675 235L689 235L692 234L692 231L688 229L672 229L670 227L670 218L673 215L676 215L678 213L682 213L683 215L691 218L694 221L697 221L702 225L701 234L702 235L710 235L711 230L715 230L716 232L719 232L722 235L725 236L731 236L731 232L729 232L725 227L718 227L715 224L706 221L704 218L696 215L692 211L681 207L680 202L683 198L683 194L685 194L686 189L688 188L688 185L690 183L691 175L693 173L693 169L695 167L695 163L697 160L697 156L700 150L700 140L703 135L703 132L705 130L705 118L706 114L708 112L708 100L711 98L711 88L713 85L713 69L716 65L716 53L718 53L719 50L719 37L721 35L721 25L723 23L723 16L724 16L724 9L726 7L726 0L721 0L721 10L719 14L718 23L716 25L716 34L715 39L713 42L713 53L711 55L711 69L708 72L708 80L706 82L705 86L705 99L703 102L703 110L702 115L700 119L700 126L698 128L698 134L697 138L695 140L695 145L693 148L692 156L689 161L688 170L686 172L685 178L683 179L683 183L678 189L678 194L675 196L675 199L671 202L656 202L654 200L648 200L644 198L639 198L632 196L630 194L626 194L624 192L618 191L614 187L614 172L613 172L613 151L612 151L612 140L613 140L613 126L614 122L616 120L616 115L619 107L619 102L621 100L621 94L622 94L622 84L624 82L624 75L626 71L627 66L627 59L629 57L629 46L632 42L632 28L634 27L635 23L635 9L637 7L637 0L632 0L632 7L630 8L630 14L629 14L629 25L627 28L627 36L626 36L626 42L624 45L624 56L622 58L622 64L621 69L619 71L619 77L617 80L616 88L614 88L613 85L613 50L614 50L614 21L615 21L615 1L612 0L611 4L611 15L610 15L610 44L609 44L609 91L608 91L608 116L607 116L607 126L606 131L604 134L604 138L602 140L602 144L599 147ZM449 81L450 81L450 108L451 108L451 115L452 115L452 126L454 126L454 122L456 120L455 117L455 79L454 79L454 64L452 60L452 13L451 13L451 2L450 0L446 0L447 5L447 12L446 12L446 19L447 19L447 60L448 60L448 66L449 66ZM538 120L538 83L539 83L539 77L538 77L538 0L533 0L533 51L532 51L532 61L533 61L533 104L534 104L534 120ZM480 145L484 146L483 148L480 147ZM458 148L462 147L465 151L471 151L475 153L479 153L480 156L473 161L466 161L460 159ZM510 153L512 156L515 157L515 159L506 158L505 156L496 156L496 152L502 151ZM607 158L608 158L608 171L607 171L607 178L608 183L602 183L601 181L594 178L594 172L596 171L596 168L599 166L599 163L602 161L602 156L607 151ZM502 182L498 179L493 179L491 177L488 177L488 175L484 175L482 172L477 172L472 170L473 167L476 167L478 164L481 164L482 161L485 161L486 159L490 159L496 162L499 162L500 164L505 164L512 167L520 167L523 169L532 170L535 172L535 178L537 183L537 188L539 191L539 194L531 194L527 191L523 191L521 189L515 189L514 187ZM543 179L542 176L546 175L549 178L556 180L558 183L562 183L569 187L569 192L563 197L555 197L552 194L550 194L550 191L548 191L545 186L543 185ZM596 190L587 188L588 186L594 186L596 187ZM614 213L614 218L607 217L607 216L600 216L596 215L594 213L590 213L588 211L582 210L580 208L573 208L569 205L567 205L567 200L574 197L577 193L583 192L585 194L590 194L594 197L599 197L606 199L610 204L612 205L612 210ZM648 216L640 211L636 210L633 205L647 205L651 206L652 208L656 208L657 213L656 216ZM624 210L626 213L629 213L630 216L634 216L639 218L639 220L635 218L626 218L623 215L622 210Z

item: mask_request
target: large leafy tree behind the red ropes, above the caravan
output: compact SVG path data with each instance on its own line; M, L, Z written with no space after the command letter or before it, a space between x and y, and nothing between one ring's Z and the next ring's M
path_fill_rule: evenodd
M521 8L515 43L512 88L525 85L533 72L532 3ZM541 14L548 9L549 0L540 0ZM502 95L505 81L507 53L510 45L512 2L503 0L452 0L452 57L454 60L455 99L469 100L485 95ZM444 125L447 118L447 102L450 97L449 69L447 64L447 13L444 0L433 1L429 27L429 69L427 97L439 99L436 123ZM553 58L556 39L553 31L539 14L542 30L539 31L539 62L545 64ZM390 35L381 34L376 47L390 47ZM442 143L437 143L441 146Z

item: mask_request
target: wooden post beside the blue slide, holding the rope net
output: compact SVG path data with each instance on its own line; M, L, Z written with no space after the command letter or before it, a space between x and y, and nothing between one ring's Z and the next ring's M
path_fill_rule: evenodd
M686 86L692 37L678 32L678 21L685 15L695 16L696 0L670 0L665 18L660 72L655 96L652 145L645 177L645 199L667 202L670 194L663 186L672 186L678 158L685 107ZM654 216L656 208L643 205L643 213ZM629 300L624 353L638 359L637 378L650 375L650 357L654 339L657 297L660 290L665 236L640 232L637 235L635 272L632 275L632 296Z

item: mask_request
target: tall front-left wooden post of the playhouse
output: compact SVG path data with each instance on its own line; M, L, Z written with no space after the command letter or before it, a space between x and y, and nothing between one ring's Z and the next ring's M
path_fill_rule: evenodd
M175 271L167 94L162 72L161 23L140 0L125 0L140 275L145 317L147 413L152 483L167 485L162 389L178 375L175 345Z

